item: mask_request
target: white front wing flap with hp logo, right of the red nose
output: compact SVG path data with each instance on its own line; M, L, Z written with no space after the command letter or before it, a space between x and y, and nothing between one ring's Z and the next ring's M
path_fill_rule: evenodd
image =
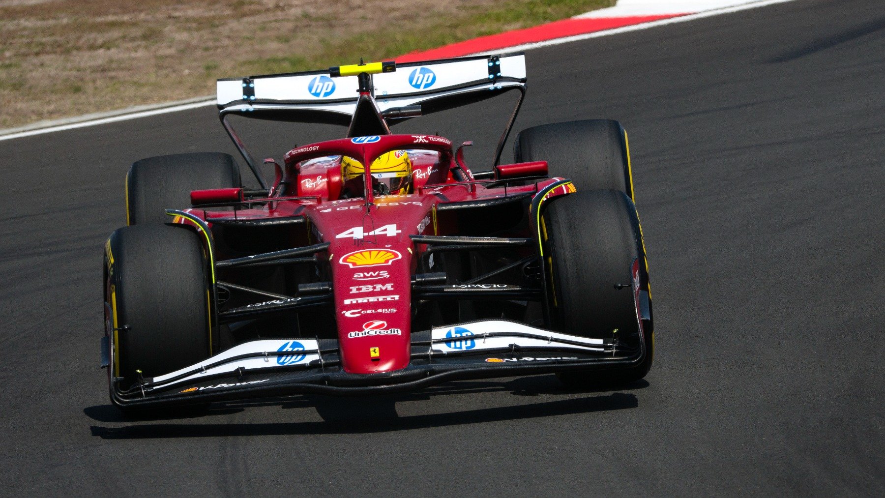
M485 320L465 325L435 328L431 332L433 351L465 353L484 349L561 348L578 351L605 351L602 339L550 332L506 320Z

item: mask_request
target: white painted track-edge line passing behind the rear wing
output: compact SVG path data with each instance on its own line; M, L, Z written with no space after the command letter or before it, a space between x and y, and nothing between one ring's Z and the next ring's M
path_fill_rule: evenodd
M740 5L735 5L733 7L726 7L723 9L715 9L712 11L703 11L703 12L698 12L696 14L689 14L686 16L681 16L678 18L661 19L661 20L646 22L643 24L636 24L633 26L616 27L614 29L607 29L605 31L596 31L594 33L575 34L574 36L567 36L566 38L557 38L555 40L547 40L545 42L526 43L523 45L516 45L514 47L507 47L506 49L498 49L498 50L493 50L490 52L489 51L478 52L477 54L471 54L471 55L495 53L495 52L500 52L501 50L517 51L517 50L540 49L541 47L548 47L550 45L559 45L561 43L578 42L581 40L588 40L590 38L611 36L612 34L628 33L630 31L639 31L641 29L649 29L651 27L665 26L668 24L676 24L678 22L688 22L689 20L704 19L704 18L709 18L712 16L718 16L720 14L727 14L727 13L736 12L736 11L746 11L749 9L755 9L757 7L765 7L766 5L784 4L787 2L793 2L793 1L794 0L760 0L759 2L754 2L751 4L740 4ZM2 142L4 140L12 140L14 138L33 136L36 134L49 134L49 133L60 132L60 131L65 131L65 130L73 130L76 128L84 128L87 126L97 126L97 125L104 125L107 123L116 123L118 121L126 121L128 119L146 118L148 116L156 116L158 114L166 114L168 112L188 111L189 109L196 109L198 107L205 107L207 105L212 105L214 103L215 103L215 100L212 99L212 100L206 100L203 102L173 105L171 107L163 107L160 109L153 109L150 111L137 111L137 112L127 113L127 114L119 114L119 115L108 117L108 118L92 119L89 121L81 121L78 123L70 123L70 124L58 125L58 126L48 126L45 128L39 128L39 129L35 129L35 130L27 130L27 131L10 133L10 134L0 134L0 142ZM117 113L119 111L112 111L112 112ZM68 120L68 119L65 119L65 120ZM0 133L3 133L3 132L0 132Z

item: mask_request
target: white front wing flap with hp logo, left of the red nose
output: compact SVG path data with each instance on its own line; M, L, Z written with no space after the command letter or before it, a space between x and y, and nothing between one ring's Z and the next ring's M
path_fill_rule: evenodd
M273 355L268 353L283 352L285 355ZM260 355L258 357L238 358L238 356ZM174 384L199 382L201 378L213 373L233 373L240 367L246 370L278 368L295 364L310 364L319 360L319 350L316 340L312 339L277 339L250 341L227 349L218 355L206 358L203 364L194 364L175 372L154 377L152 387L169 387ZM212 366L209 366L212 365ZM200 372L185 375L188 372L199 370ZM175 379L185 375L181 379ZM174 380L172 380L174 379Z

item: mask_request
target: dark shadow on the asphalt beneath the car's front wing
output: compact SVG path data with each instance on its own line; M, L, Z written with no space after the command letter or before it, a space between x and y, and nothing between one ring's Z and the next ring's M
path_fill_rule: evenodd
M648 382L641 380L634 384L621 387L618 392L611 390L567 390L558 385L553 376L529 377L512 379L505 382L495 381L460 381L443 384L417 393L406 395L384 395L377 397L334 397L320 395L304 395L283 399L253 400L249 402L215 403L209 410L193 410L174 414L162 413L144 415L135 419L124 417L111 405L89 407L84 413L99 422L132 423L136 420L168 421L170 418L204 417L206 424L134 424L123 426L90 425L92 435L102 439L163 439L163 438L199 438L219 436L260 436L287 434L320 434L320 433L382 433L422 429L447 425L477 424L482 422L499 422L524 418L544 418L573 413L591 413L595 411L626 410L636 408L639 402L635 395L623 391L647 387ZM462 410L438 414L412 415L400 417L396 413L396 402L427 401L442 395L489 395L506 393L516 396L562 396L564 399L476 410ZM588 395L607 392L608 395ZM499 399L499 398L498 398ZM247 424L215 424L209 419L247 408L261 406L279 406L281 409L313 407L322 421L282 422L282 423L247 423Z

